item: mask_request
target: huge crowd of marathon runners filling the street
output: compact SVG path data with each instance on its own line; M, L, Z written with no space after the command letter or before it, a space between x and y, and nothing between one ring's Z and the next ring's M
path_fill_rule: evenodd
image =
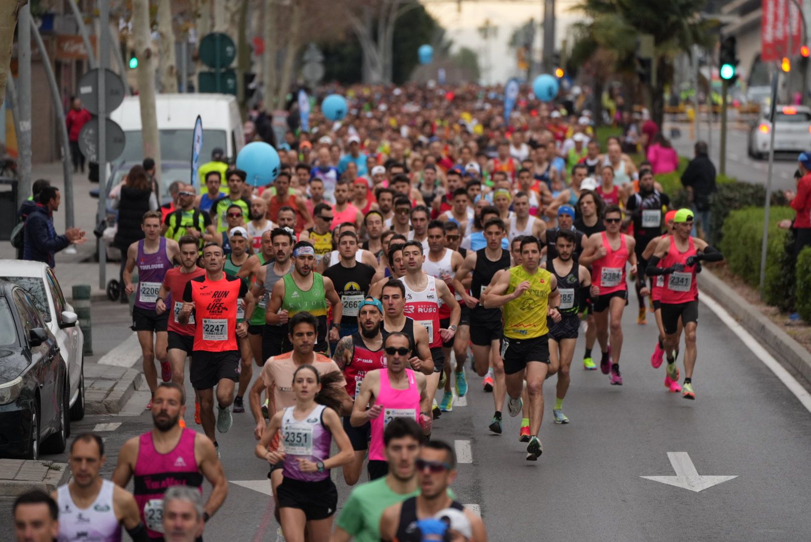
M649 165L595 139L588 111L524 98L505 123L503 97L474 86L345 94L343 121L316 112L277 144L271 186L222 163L201 194L178 182L144 213L123 281L154 428L118 452L112 482L101 439L76 437L73 481L21 497L18 534L198 539L228 493L217 438L252 414L285 540L487 540L449 488L456 454L433 421L475 396L493 415L474 430L502 434L506 403L539 460L543 422L570 423L581 334L577 363L623 385L629 290L637 324L654 313L664 386L696 398L697 273L722 256ZM340 505L333 470L355 486Z

